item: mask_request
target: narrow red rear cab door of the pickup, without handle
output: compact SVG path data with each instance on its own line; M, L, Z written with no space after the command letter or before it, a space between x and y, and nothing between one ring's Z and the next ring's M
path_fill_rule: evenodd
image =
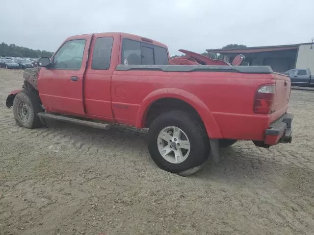
M88 115L113 118L111 108L111 77L118 64L120 35L95 34L85 72L85 105Z

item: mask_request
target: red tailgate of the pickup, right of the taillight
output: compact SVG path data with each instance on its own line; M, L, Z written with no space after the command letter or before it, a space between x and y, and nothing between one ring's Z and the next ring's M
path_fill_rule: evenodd
M291 82L288 76L281 73L274 73L274 76L276 79L276 88L271 121L280 118L287 112L291 92Z

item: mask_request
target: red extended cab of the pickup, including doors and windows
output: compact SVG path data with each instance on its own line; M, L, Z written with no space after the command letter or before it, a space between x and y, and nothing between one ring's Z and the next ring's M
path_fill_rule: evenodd
M165 45L131 34L70 37L52 56L50 66L39 71L39 95L49 112L120 122L128 117L120 117L117 110L125 86L111 80L116 66L167 65L168 60Z

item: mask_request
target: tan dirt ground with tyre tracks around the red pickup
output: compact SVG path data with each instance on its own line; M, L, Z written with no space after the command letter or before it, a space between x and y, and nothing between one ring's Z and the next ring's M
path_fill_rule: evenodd
M191 177L160 170L144 130L18 127L0 69L0 235L314 234L314 91L293 90L293 141L239 141Z

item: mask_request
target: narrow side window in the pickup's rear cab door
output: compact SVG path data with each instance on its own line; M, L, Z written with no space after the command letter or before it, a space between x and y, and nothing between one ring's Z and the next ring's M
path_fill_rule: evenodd
M113 38L97 38L93 51L92 69L108 70L110 67Z

